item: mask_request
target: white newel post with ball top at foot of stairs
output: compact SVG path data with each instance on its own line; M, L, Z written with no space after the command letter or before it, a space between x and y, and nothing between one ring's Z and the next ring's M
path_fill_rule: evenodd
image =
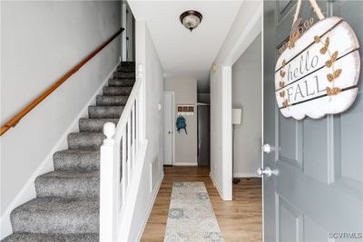
M115 126L112 122L103 125L103 133L107 137L101 146L100 159L100 241L114 241L115 217L115 174L113 135Z

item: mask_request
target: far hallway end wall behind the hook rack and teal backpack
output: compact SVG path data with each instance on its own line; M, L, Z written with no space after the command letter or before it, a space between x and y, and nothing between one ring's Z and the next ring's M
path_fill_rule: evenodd
M175 121L178 115L178 104L197 103L197 80L195 79L169 79L164 82L164 91L174 92ZM194 115L184 116L187 122L187 131L178 132L174 125L175 134L175 160L174 165L197 165L197 109Z

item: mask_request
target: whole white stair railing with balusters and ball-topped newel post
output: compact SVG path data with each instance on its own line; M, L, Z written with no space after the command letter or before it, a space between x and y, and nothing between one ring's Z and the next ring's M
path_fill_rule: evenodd
M145 141L144 134L144 81L143 67L137 66L136 82L123 114L117 123L107 122L103 133L100 160L100 241L120 241L121 227L124 219L131 219L127 211L127 199L132 188L137 187L142 167L139 151ZM126 216L126 215L129 216Z

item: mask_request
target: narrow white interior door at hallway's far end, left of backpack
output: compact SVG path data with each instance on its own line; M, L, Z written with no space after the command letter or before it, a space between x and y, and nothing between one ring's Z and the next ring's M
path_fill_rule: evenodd
M164 165L173 163L174 94L164 92Z

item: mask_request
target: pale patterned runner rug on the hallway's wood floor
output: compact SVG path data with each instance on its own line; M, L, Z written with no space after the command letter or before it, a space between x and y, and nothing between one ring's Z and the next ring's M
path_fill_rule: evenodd
M224 241L203 182L173 183L164 241Z

